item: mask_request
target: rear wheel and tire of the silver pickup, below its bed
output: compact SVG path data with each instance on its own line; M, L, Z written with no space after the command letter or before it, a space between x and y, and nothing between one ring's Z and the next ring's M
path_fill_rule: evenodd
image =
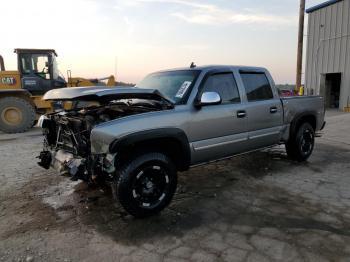
M315 130L307 122L302 123L286 143L287 155L296 161L306 161L312 154L315 145Z

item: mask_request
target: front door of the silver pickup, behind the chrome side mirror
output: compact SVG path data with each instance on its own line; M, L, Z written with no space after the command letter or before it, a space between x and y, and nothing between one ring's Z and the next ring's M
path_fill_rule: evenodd
M204 92L217 92L222 103L195 109L189 126L192 164L241 152L248 139L244 105L232 72L209 74L201 85Z

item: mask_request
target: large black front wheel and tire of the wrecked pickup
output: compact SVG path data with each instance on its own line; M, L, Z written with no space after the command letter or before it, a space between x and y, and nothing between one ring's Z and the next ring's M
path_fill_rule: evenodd
M173 162L162 153L145 153L119 170L117 197L129 214L143 218L168 206L176 186Z

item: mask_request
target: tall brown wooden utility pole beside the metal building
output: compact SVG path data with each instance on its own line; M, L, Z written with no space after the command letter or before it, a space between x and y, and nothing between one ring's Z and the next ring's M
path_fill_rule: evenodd
M302 76L302 70L303 70L304 18L305 18L305 0L300 0L297 78L296 78L296 86L295 86L297 90L299 90L299 87L301 87L301 76Z

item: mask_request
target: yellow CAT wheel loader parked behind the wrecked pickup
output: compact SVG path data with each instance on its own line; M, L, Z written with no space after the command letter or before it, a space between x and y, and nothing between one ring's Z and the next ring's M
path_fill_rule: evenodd
M53 49L15 49L17 71L6 71L0 56L0 131L20 133L30 129L37 116L54 110L55 105L43 101L49 90L78 86L115 86L114 76L101 79L60 75ZM107 81L107 83L103 81Z

